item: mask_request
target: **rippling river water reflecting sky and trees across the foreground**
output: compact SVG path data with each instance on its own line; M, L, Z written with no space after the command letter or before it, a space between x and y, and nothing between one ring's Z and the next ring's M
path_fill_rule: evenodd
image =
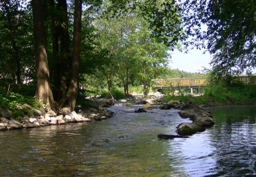
M0 132L0 176L256 176L256 107L211 108L216 125L189 138L177 110L114 106L95 123Z

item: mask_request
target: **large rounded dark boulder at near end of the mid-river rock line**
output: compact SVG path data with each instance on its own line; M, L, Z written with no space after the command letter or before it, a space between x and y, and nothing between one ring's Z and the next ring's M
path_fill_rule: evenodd
M177 126L177 133L179 135L193 135L201 131L205 131L205 128L195 123L181 123Z

